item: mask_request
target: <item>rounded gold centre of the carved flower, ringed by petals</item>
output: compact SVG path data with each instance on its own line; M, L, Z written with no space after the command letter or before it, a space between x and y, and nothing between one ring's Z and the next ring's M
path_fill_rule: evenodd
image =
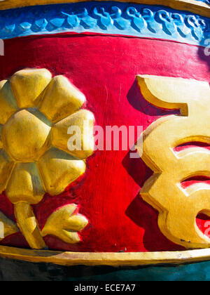
M51 127L36 112L21 110L3 126L3 147L18 162L34 162L48 150Z

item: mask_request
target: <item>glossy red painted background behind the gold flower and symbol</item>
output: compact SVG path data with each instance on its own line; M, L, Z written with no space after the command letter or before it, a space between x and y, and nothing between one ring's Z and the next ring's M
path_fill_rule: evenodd
M5 41L0 57L0 79L25 67L46 67L64 74L87 98L87 109L100 126L144 126L170 112L158 110L141 96L135 77L154 74L210 81L210 61L203 48L172 41L59 34ZM163 143L164 144L164 143ZM70 251L165 251L183 249L169 242L157 225L158 213L139 192L152 171L129 151L97 151L87 171L57 197L45 195L34 206L41 227L59 206L75 202L90 225L81 232L83 242L69 245L46 237L50 249ZM5 195L0 210L10 218L13 206ZM202 221L198 221L200 223ZM21 234L2 244L27 247Z

